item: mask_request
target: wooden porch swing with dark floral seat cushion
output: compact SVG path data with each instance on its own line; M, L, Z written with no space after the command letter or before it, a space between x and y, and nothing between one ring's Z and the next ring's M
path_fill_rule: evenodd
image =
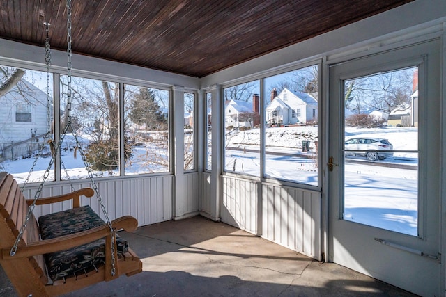
M109 225L79 197L93 196L91 188L66 195L40 198L36 205L72 200L73 209L41 216L31 214L17 252L10 250L33 200L26 200L12 175L0 172L0 264L20 296L58 296L120 275L142 271L142 262L127 241L114 238L115 270L112 275L112 236ZM116 230L133 232L137 220L123 216L112 221Z

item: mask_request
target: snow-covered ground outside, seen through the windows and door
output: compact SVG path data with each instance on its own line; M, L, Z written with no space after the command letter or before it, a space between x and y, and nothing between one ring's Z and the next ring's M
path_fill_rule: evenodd
M376 129L346 129L346 138L360 135L387 138L394 150L417 150L417 128L384 127ZM317 127L282 127L266 129L266 175L301 184L318 185L315 141ZM69 138L67 137L68 141ZM225 168L248 175L260 175L259 129L238 131L226 136ZM309 152L302 152L302 141L310 141ZM352 163L353 160L364 161ZM235 164L234 164L234 160ZM34 159L5 161L1 170L12 173L23 182ZM43 176L49 158L40 158L30 181ZM82 159L63 152L63 162L70 179L85 178ZM383 167L405 165L407 168ZM137 174L140 166L133 163L126 174ZM346 158L344 166L344 219L382 227L405 234L417 235L418 171L417 153L396 152L383 161L365 162L365 158ZM93 172L100 176L104 172ZM106 172L105 174L108 175ZM118 172L113 172L118 175ZM54 179L52 175L49 180Z

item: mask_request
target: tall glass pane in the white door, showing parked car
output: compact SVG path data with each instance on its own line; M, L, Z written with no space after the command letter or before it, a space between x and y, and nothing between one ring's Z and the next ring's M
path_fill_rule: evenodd
M344 220L418 235L418 67L344 81Z

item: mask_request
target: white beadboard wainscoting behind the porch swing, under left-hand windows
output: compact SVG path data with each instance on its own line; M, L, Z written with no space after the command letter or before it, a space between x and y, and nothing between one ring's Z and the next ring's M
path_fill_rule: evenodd
M194 182L194 179L188 179ZM160 223L172 218L173 201L173 175L162 175L157 177L129 177L123 179L95 179L98 192L105 205L110 220L120 216L130 215L137 218L139 226ZM91 187L89 179L73 182L75 190ZM196 186L197 187L197 186ZM38 185L26 186L24 195L26 198L34 198ZM193 190L192 186L188 188ZM68 183L47 182L42 192L42 197L70 193ZM191 195L194 194L193 192ZM196 194L195 194L196 195ZM197 199L197 198L195 198ZM96 195L92 198L82 198L81 205L89 204L101 218L105 218ZM43 214L70 209L70 201L37 206L34 209L36 218Z

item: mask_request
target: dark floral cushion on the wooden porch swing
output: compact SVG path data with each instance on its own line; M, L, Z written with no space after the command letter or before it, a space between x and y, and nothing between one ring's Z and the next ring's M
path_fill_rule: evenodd
M42 239L73 234L105 224L88 205L40 216L38 222ZM118 255L123 255L128 251L128 242L116 235L116 248ZM53 281L76 276L104 264L105 239L44 256L49 277Z

